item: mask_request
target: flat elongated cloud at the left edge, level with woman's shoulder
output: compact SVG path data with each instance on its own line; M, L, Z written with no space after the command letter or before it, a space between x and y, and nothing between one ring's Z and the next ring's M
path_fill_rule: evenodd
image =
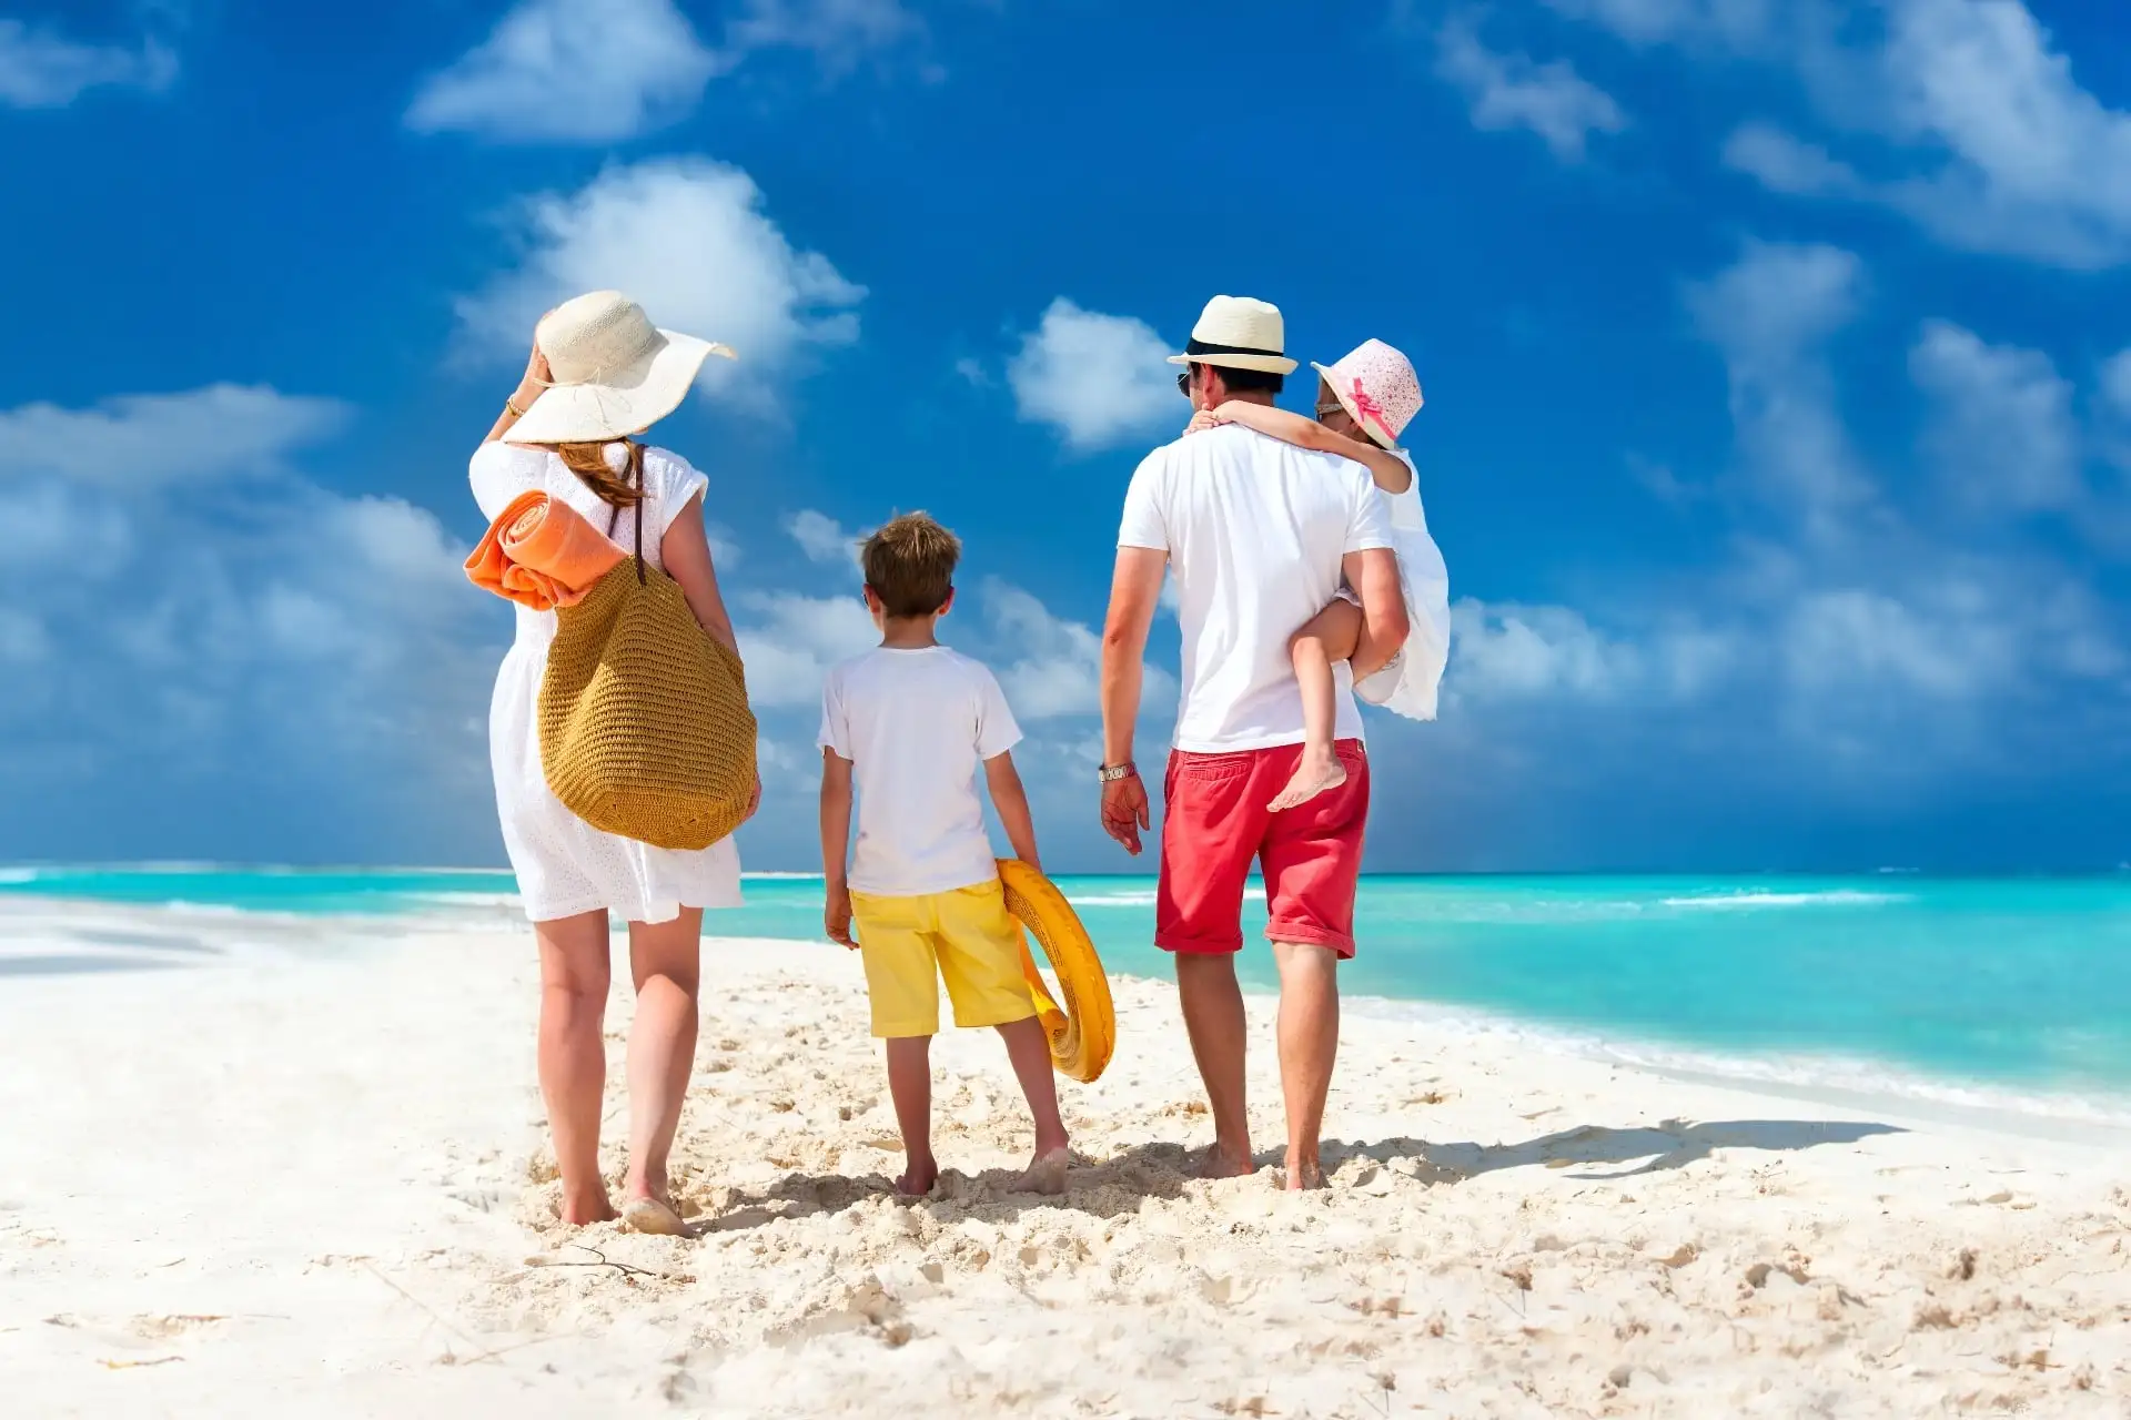
M0 479L43 473L139 490L230 473L275 473L290 449L347 422L339 400L264 385L126 394L94 409L0 411Z

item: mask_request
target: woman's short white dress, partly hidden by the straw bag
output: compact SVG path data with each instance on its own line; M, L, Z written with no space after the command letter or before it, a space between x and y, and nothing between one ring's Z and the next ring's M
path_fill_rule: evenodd
M607 458L620 473L622 445ZM601 530L612 509L556 453L486 443L473 456L473 500L494 522L518 494L539 490L578 509ZM710 481L688 460L644 449L644 560L658 556L665 530ZM635 547L635 513L614 522L614 541ZM503 847L518 875L526 918L550 922L607 909L629 922L671 922L682 907L739 907L739 847L725 839L705 849L652 847L592 828L548 790L539 764L539 683L554 641L554 613L518 607L518 639L497 671L488 705L488 760L497 775Z

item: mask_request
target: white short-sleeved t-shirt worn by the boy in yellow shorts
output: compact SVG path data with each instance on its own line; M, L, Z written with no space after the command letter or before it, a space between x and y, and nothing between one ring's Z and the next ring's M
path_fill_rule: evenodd
M1021 743L999 681L944 645L878 647L829 671L820 747L852 762L850 890L923 896L999 875L976 771Z

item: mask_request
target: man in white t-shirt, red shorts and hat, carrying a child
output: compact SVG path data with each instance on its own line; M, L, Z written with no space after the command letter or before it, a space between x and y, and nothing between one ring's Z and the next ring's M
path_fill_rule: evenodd
M1170 364L1193 409L1270 404L1296 368L1276 307L1215 296ZM1368 762L1351 675L1406 639L1389 519L1368 473L1227 424L1146 456L1125 494L1102 637L1102 826L1140 852L1146 788L1132 760L1140 664L1164 573L1183 626L1183 703L1164 788L1155 945L1176 956L1185 1030L1213 1105L1206 1177L1253 1171L1245 1113L1245 1020L1236 986L1242 886L1264 864L1281 969L1287 1188L1323 1182L1317 1137L1338 1052L1338 962L1353 956L1353 894L1368 818ZM1302 756L1302 692L1287 641L1340 590L1360 594L1379 664L1338 668L1347 781L1285 813L1270 803Z

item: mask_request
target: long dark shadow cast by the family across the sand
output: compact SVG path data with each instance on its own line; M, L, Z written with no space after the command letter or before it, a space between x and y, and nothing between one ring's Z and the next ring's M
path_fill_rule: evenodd
M1325 1173L1340 1173L1355 1158L1396 1167L1421 1184L1462 1184L1502 1169L1577 1169L1571 1179L1628 1179L1643 1173L1683 1169L1718 1150L1762 1150L1771 1154L1850 1145L1875 1135L1899 1135L1892 1124L1839 1120L1724 1120L1690 1124L1666 1120L1656 1126L1609 1128L1585 1124L1524 1143L1432 1143L1428 1139L1379 1139L1349 1143L1325 1139ZM1136 1213L1146 1199L1176 1199L1198 1182L1202 1150L1181 1143L1136 1143L1110 1158L1074 1154L1063 1194L1010 1192L1014 1171L991 1169L965 1175L948 1169L938 1188L908 1207L936 1218L948 1213L985 1220L1019 1218L1031 1209L1070 1209L1095 1218ZM1259 1169L1279 1169L1281 1150L1262 1150ZM1366 1175L1364 1175L1366 1182ZM1334 1184L1338 1188L1338 1184ZM729 1194L714 1211L690 1220L690 1233L735 1233L778 1218L840 1213L865 1199L893 1199L886 1175L788 1173L761 1192Z

